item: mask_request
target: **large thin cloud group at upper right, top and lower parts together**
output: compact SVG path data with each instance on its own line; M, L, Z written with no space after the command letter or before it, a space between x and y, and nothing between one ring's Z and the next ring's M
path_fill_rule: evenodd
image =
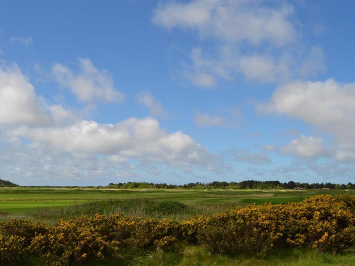
M239 74L274 83L322 71L322 49L304 48L293 16L293 6L280 2L193 0L158 4L152 22L212 40L209 49L191 48L184 76L198 86L213 87L218 79Z

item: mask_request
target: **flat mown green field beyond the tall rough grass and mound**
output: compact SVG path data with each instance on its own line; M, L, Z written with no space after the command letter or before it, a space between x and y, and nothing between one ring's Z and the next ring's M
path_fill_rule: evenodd
M215 210L247 204L284 204L316 194L355 194L353 191L328 190L183 190L183 189L96 189L96 188L0 188L0 212L26 215L38 208L68 207L102 200L149 199L178 201L187 206ZM0 217L1 218L1 217Z

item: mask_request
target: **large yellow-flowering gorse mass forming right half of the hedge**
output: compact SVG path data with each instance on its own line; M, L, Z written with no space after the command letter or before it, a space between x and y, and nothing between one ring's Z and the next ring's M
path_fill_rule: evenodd
M355 244L355 196L317 195L300 203L249 205L207 218L198 241L215 252L264 255L274 246L332 250Z

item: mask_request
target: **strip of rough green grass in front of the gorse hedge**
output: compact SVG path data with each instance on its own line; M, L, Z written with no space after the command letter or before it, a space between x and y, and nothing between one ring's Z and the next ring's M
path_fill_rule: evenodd
M326 266L326 265L354 265L355 254L343 252L332 254L309 250L305 248L293 248L276 250L267 257L253 257L249 255L219 255L211 254L202 246L180 245L174 252L162 250L140 250L136 253L127 252L120 259L97 261L89 266L108 265L140 265L140 266Z

